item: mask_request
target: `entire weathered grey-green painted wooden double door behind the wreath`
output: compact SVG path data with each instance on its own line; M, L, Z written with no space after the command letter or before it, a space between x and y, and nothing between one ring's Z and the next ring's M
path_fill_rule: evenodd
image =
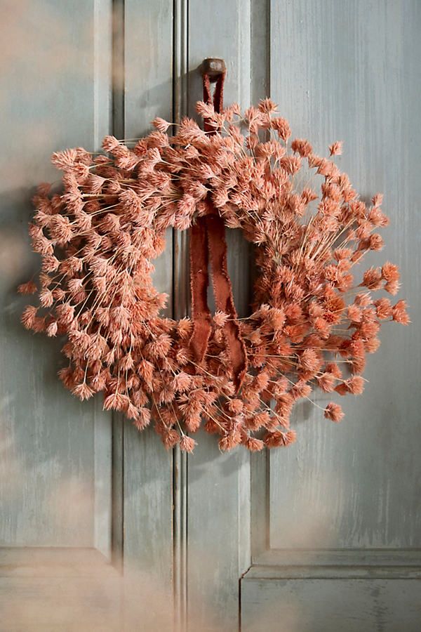
M420 305L417 0L2 0L0 630L415 631L421 626L420 328L395 328L361 400L328 425L298 409L298 443L250 459L200 434L167 453L55 376L60 345L19 324L36 270L27 221L51 152L137 138L194 114L203 58L225 102L271 94L363 195L385 192L384 258ZM187 237L156 284L188 310ZM246 312L250 258L229 235ZM315 409L317 410L317 409ZM417 434L418 433L418 434Z

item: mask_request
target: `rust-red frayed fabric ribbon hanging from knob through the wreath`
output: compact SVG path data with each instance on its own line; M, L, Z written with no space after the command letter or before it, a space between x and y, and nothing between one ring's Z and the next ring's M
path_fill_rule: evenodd
M203 100L212 103L215 112L222 110L225 72L216 81L213 100L210 95L210 77L203 74ZM215 129L205 120L204 129L215 133ZM238 316L232 296L232 284L227 268L227 242L225 240L225 224L210 197L206 200L208 212L196 219L190 229L190 289L192 293L193 333L190 348L199 364L208 350L212 331L211 315L208 307L208 263L212 272L213 294L217 310L225 312L228 319L224 331L229 350L229 361L234 373L236 390L247 371L246 345L241 338Z

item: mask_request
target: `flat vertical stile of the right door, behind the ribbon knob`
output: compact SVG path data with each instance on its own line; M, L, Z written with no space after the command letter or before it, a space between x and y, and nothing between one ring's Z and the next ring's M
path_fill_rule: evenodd
M202 98L204 58L227 65L224 100L250 105L250 0L189 4L188 114ZM240 231L227 230L228 268L240 313L249 302L250 253ZM221 454L202 430L189 456L187 586L189 629L239 626L239 579L250 565L250 457L243 447Z

